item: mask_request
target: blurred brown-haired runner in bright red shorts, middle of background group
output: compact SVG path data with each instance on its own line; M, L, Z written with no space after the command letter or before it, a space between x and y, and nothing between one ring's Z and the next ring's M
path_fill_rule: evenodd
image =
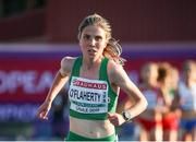
M162 96L162 129L163 129L163 141L177 141L179 130L179 109L177 103L177 82L179 73L168 62L159 64L158 69L158 82L160 94Z

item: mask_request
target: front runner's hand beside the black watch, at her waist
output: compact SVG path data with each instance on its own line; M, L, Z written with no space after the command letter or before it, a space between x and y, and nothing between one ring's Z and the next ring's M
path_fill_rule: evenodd
M113 114L108 113L108 119L115 127L121 126L122 123L125 122L125 120L122 117L122 115L117 114L117 113L113 113Z

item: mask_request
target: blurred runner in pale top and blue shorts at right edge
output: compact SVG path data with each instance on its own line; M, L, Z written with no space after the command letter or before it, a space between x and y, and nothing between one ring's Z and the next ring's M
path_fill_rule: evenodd
M183 66L183 79L180 82L183 140L196 141L196 64L187 60Z

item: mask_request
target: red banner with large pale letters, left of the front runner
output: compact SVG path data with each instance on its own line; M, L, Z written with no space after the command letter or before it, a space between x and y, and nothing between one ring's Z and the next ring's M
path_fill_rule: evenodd
M57 59L0 60L0 102L42 102L59 68Z

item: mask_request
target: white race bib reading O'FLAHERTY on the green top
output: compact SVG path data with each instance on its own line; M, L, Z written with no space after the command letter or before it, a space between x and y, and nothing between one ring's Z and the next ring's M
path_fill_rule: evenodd
M69 98L70 109L82 114L108 111L108 82L72 76Z

